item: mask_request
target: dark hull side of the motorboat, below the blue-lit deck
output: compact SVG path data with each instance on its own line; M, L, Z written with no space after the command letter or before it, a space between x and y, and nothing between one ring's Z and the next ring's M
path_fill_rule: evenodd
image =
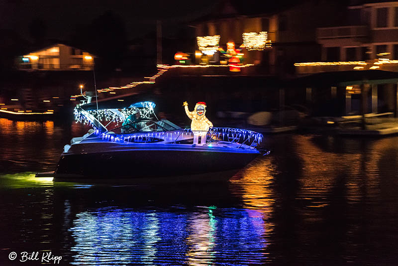
M225 181L259 154L255 150L228 152L211 147L173 146L174 149L113 146L112 151L102 146L99 152L86 152L90 145L81 146L79 153L61 155L54 177L60 181L131 179L136 183Z

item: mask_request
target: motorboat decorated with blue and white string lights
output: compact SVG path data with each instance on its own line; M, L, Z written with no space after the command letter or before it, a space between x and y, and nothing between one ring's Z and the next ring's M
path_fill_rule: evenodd
M55 181L191 182L225 181L262 152L263 135L232 128L210 128L205 144L194 144L191 129L158 119L153 102L131 105L77 105L77 123L92 129L74 137L54 172L37 177ZM133 114L140 119L126 123ZM139 126L139 127L138 127Z

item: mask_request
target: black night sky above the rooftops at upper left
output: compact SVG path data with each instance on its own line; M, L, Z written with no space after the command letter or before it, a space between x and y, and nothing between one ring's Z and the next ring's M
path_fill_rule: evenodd
M90 24L96 17L111 11L126 25L127 37L139 38L155 30L155 20L180 25L207 14L217 3L214 0L134 1L134 0L0 0L0 29L11 29L29 38L29 25L42 20L46 38L64 39L77 27Z

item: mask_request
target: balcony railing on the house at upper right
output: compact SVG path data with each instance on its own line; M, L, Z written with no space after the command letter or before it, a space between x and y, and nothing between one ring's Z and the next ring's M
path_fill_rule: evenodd
M316 31L318 39L367 37L368 34L368 26L364 25L317 28Z

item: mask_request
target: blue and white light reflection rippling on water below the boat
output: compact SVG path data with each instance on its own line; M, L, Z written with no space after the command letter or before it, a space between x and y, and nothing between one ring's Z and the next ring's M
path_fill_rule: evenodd
M267 258L256 211L101 208L78 213L72 264L249 265Z

